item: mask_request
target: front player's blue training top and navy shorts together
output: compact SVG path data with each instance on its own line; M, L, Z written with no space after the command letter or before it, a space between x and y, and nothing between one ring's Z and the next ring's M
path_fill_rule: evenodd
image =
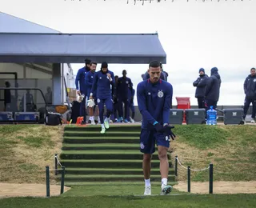
M159 80L153 84L150 80L138 83L138 109L142 114L142 131L140 135L141 152L153 154L155 142L158 146L170 146L170 137L154 130L156 122L169 124L170 106L173 97L173 87L169 82Z

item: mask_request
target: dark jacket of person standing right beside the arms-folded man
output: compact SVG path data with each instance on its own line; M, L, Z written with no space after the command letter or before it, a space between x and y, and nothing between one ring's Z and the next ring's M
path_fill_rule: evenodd
M221 76L218 74L218 71L213 71L210 78L207 79L206 83L206 100L212 100L218 102L219 98L219 89L221 87Z

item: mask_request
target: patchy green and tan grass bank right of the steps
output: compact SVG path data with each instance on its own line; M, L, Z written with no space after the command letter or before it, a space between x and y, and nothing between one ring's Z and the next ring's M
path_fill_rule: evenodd
M175 126L178 139L171 142L184 166L202 169L214 164L214 180L250 181L256 172L256 126ZM178 166L178 180L186 170ZM209 180L209 171L191 171L195 182Z

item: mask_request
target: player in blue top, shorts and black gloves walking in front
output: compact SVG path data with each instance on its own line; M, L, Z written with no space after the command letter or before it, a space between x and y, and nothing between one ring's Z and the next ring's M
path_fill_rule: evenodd
M141 152L143 153L143 173L145 179L144 195L151 194L150 169L151 157L155 151L155 142L158 146L162 186L160 194L169 194L172 186L167 185L169 164L167 150L170 146L170 137L175 138L169 126L170 106L173 96L173 87L169 82L160 79L160 62L150 62L148 80L138 83L138 109L142 114L142 131L140 135Z

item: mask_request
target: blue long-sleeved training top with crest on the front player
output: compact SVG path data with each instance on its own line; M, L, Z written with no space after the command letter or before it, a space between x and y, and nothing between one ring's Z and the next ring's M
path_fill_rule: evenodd
M169 124L173 86L159 80L156 84L150 79L138 83L138 109L142 114L142 129L153 129L154 123Z

